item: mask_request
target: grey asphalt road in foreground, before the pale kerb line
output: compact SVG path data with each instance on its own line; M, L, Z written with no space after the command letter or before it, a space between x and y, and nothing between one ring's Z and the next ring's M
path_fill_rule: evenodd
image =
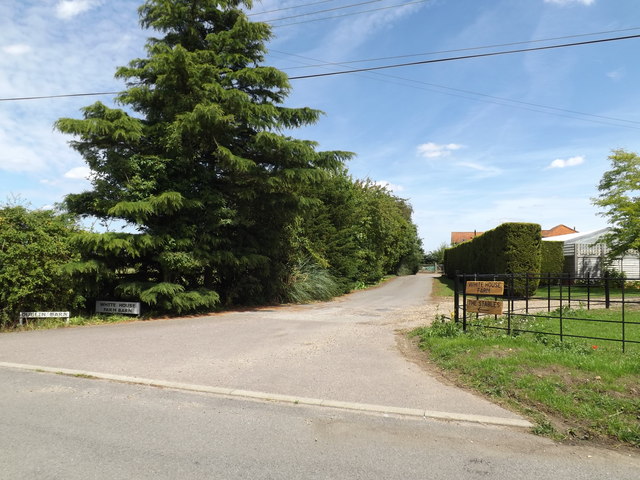
M0 479L637 480L521 430L0 369Z

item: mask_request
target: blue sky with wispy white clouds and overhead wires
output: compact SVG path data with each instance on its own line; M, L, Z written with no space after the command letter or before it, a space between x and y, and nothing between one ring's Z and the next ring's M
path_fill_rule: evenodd
M154 35L139 4L0 2L0 203L48 208L90 188L53 124L114 95L13 99L123 90L116 68ZM640 38L477 55L640 35L638 0L263 0L248 13L273 26L265 64L292 77L286 105L324 112L288 133L354 152L354 177L412 205L426 251L504 222L607 225L592 199L608 157L640 153Z

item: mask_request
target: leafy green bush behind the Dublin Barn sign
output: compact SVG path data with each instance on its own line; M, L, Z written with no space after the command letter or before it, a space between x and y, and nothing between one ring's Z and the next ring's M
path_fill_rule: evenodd
M75 258L74 219L52 210L0 208L0 323L21 311L68 311L82 304L62 266Z

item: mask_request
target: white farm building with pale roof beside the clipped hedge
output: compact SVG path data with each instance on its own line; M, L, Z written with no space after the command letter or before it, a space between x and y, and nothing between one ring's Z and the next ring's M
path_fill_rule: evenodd
M575 277L598 277L607 266L608 248L598 241L609 228L591 232L571 233L556 237L544 238L544 241L563 242L565 272ZM623 272L627 278L640 278L640 256L637 252L629 252L624 257L616 258L608 264L613 270Z

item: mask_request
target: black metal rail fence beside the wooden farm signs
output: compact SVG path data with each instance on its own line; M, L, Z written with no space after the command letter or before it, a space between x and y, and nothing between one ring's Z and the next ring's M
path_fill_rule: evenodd
M470 281L503 282L504 293L469 294ZM640 345L640 278L623 279L609 274L458 274L454 290L454 319L462 323L464 331L485 328L509 335L556 337L560 341L579 338L616 342L623 352L632 344ZM515 295L516 291L528 294ZM499 306L501 313L489 313L491 309L483 312L478 304Z

